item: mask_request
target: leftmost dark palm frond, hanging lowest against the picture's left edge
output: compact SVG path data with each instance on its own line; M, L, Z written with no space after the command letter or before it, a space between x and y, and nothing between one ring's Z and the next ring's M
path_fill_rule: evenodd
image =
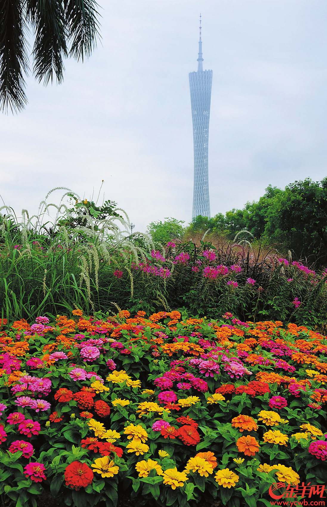
M21 0L0 2L0 108L21 111L27 99L23 73L28 59L24 46L25 22Z

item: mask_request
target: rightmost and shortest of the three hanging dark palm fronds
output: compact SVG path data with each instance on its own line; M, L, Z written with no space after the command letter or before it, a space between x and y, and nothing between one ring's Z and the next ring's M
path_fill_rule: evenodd
M89 56L100 37L97 5L94 0L64 1L67 38L71 40L69 55L76 60Z

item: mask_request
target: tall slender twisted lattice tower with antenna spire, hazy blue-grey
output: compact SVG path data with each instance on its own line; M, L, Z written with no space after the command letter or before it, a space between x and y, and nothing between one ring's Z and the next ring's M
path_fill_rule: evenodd
M201 14L198 70L190 72L190 92L194 144L194 189L192 218L198 215L210 218L208 136L212 70L202 68Z

